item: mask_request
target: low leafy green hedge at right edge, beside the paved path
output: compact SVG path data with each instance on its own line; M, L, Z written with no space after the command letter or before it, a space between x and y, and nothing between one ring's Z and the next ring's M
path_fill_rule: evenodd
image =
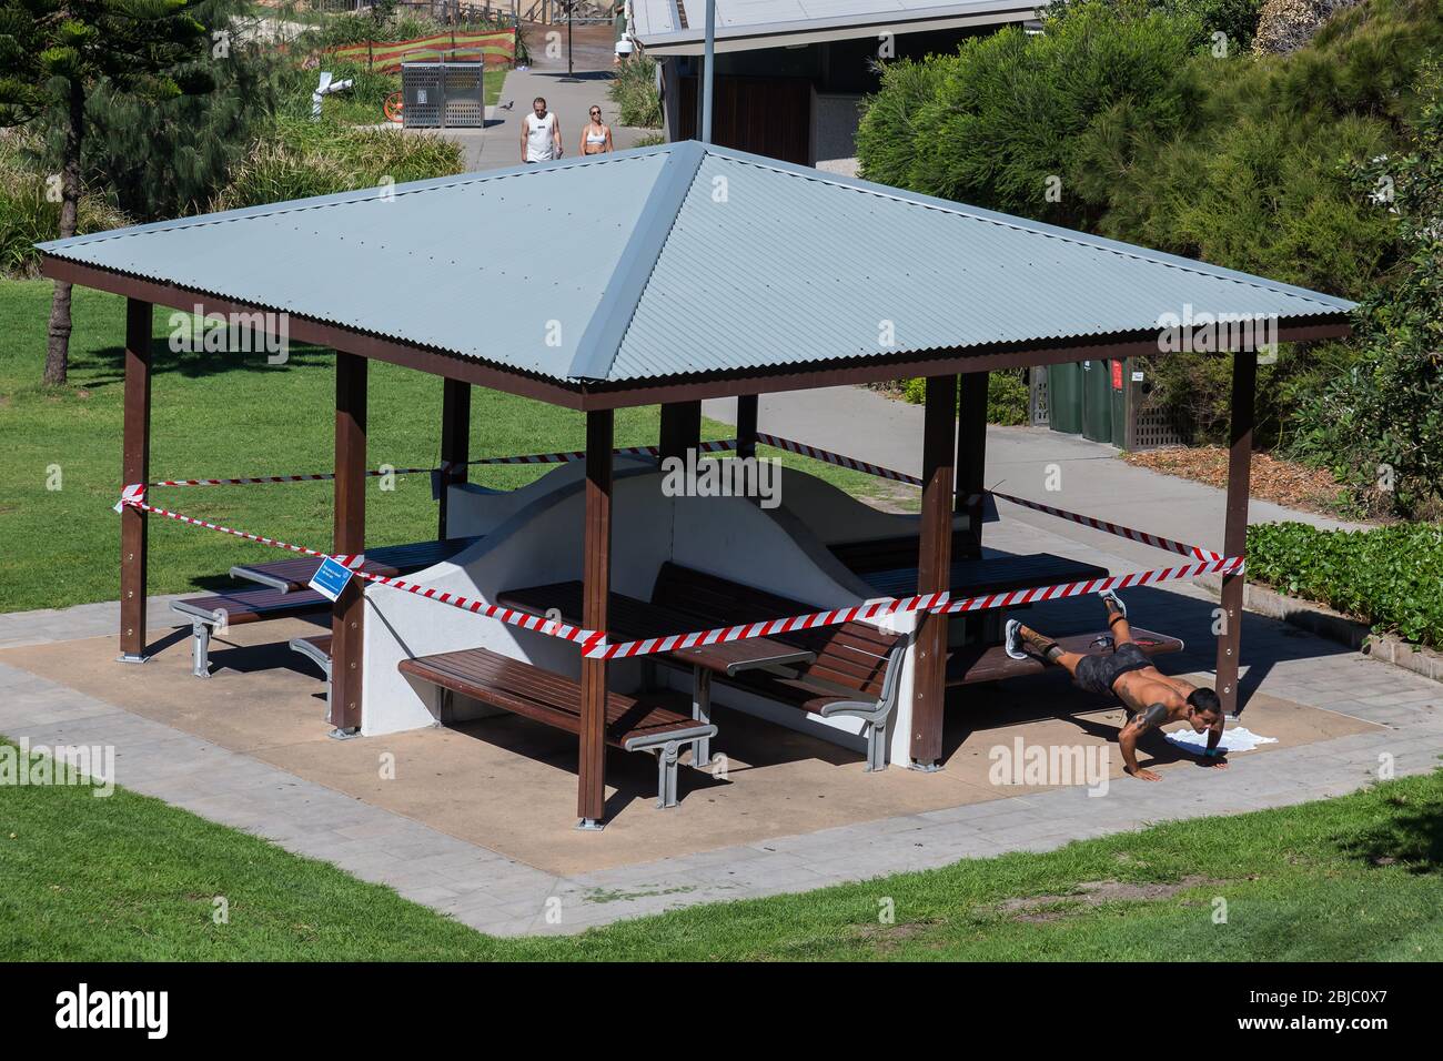
M1443 525L1325 531L1302 523L1248 527L1248 577L1322 601L1374 629L1443 647Z

